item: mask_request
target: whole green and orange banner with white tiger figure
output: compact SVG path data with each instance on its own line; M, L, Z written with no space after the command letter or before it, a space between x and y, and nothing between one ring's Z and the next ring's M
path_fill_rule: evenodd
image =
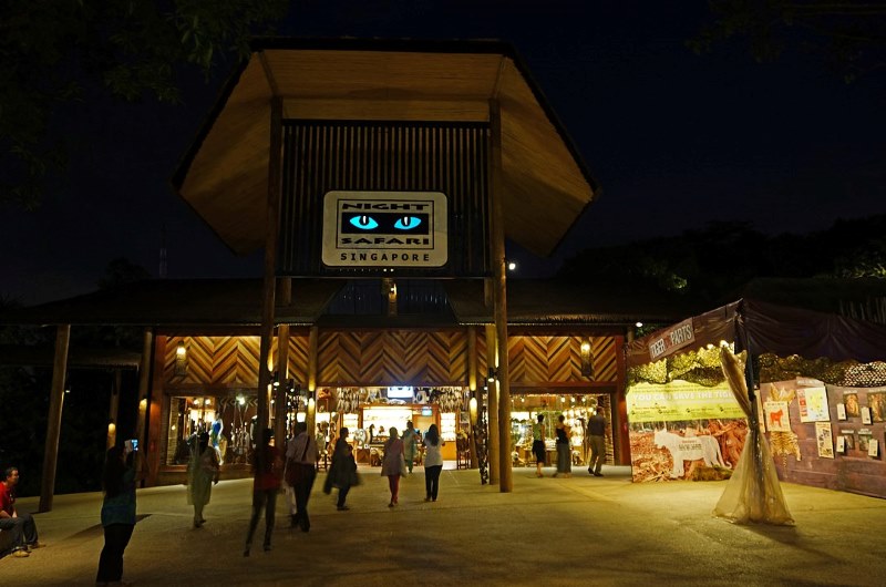
M639 383L627 394L631 473L636 482L729 476L748 422L725 383ZM717 471L719 473L711 473ZM720 478L720 477L718 477Z

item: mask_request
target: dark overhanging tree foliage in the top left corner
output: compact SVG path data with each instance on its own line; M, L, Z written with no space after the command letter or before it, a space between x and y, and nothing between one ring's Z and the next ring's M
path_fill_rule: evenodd
M86 89L136 102L181 100L178 76L248 54L287 0L0 0L0 203L40 202L63 167L60 104Z

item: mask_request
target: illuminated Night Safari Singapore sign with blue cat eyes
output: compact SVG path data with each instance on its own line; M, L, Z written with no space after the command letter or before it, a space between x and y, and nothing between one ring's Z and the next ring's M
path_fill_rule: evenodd
M440 192L328 192L323 262L332 267L446 264L446 196Z

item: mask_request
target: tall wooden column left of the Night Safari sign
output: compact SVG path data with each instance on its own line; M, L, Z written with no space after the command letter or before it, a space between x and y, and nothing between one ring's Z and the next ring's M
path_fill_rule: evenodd
M274 96L270 104L270 150L268 154L268 200L265 223L265 284L261 305L260 346L258 352L258 389L256 445L264 446L265 429L268 428L268 387L270 371L268 359L274 339L276 309L277 234L279 231L280 181L282 156L282 99ZM281 443L282 440L278 440ZM265 466L264 451L256 453L256 474Z

